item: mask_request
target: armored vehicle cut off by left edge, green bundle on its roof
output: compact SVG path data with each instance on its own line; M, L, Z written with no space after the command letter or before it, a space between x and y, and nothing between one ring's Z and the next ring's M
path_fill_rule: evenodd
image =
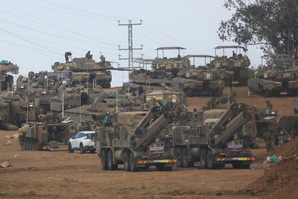
M0 72L1 90L10 89L13 85L13 76L10 74L19 74L19 67L7 60L2 60L0 62Z

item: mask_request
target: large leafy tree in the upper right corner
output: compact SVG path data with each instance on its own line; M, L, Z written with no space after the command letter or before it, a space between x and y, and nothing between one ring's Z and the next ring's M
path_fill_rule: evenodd
M297 0L228 0L232 18L221 21L217 31L223 41L261 45L264 53L282 53L298 45Z

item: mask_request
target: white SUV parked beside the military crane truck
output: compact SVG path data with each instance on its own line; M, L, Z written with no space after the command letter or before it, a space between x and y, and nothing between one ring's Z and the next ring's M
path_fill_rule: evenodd
M82 131L78 132L75 137L71 137L68 141L68 152L73 153L74 150L80 150L80 153L90 151L95 152L94 145L95 131Z

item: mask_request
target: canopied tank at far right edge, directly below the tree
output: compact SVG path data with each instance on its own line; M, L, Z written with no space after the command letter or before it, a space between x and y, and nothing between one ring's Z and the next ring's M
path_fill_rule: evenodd
M298 82L297 71L292 62L280 63L280 59L287 60L289 55L274 54L264 55L262 58L262 67L257 71L255 78L247 81L248 88L259 95L268 97L271 95L297 95ZM263 59L269 64L263 66ZM277 62L274 59L279 59Z

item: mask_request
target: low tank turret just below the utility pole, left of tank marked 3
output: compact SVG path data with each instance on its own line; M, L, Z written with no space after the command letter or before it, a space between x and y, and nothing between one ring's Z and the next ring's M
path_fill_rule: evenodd
M129 73L129 79L133 83L142 84L142 85L160 85L160 83L165 83L169 85L173 81L169 78L167 74L162 71L156 70L144 70L144 69L133 69Z

